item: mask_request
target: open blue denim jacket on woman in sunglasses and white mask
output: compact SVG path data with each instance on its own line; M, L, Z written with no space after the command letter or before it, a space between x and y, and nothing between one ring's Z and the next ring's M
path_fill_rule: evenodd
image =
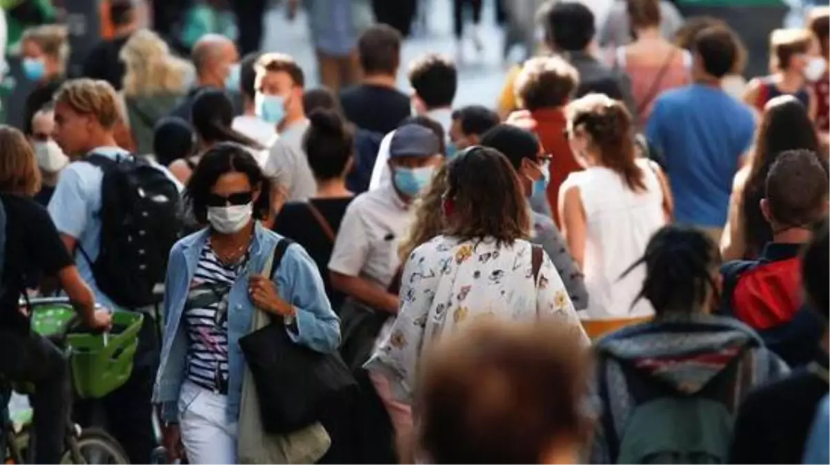
M188 337L181 324L182 314L208 235L208 230L198 231L179 240L170 250L164 290L164 340L153 392L154 403L162 404L162 419L165 422L178 420L178 397L188 368ZM252 312L256 309L248 297L248 279L251 274L261 273L280 238L280 235L256 223L251 259L230 290L227 419L231 422L237 421L239 416L245 368L245 358L238 341L251 332ZM315 351L336 350L340 343L339 318L331 310L320 272L305 249L296 244L289 246L274 277L280 297L296 310L295 330L289 331L286 327L291 340Z

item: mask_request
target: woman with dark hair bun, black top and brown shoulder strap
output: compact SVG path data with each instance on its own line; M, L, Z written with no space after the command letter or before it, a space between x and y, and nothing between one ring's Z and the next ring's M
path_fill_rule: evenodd
M346 174L353 162L353 135L339 114L318 109L309 115L303 147L317 181L309 201L289 202L276 216L274 230L295 240L314 259L325 283L331 308L339 312L344 295L331 287L328 273L334 237L354 194L346 189Z

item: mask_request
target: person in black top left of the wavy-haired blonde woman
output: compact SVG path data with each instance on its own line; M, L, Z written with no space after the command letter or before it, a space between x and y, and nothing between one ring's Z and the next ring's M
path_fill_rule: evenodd
M83 63L83 75L91 79L109 82L115 90L121 90L124 80L124 62L120 59L121 49L129 37L138 29L134 0L110 0L110 18L115 27L115 36L100 41Z

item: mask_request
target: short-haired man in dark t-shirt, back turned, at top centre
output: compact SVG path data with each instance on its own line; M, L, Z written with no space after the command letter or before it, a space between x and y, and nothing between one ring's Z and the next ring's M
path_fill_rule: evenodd
M385 24L369 27L359 38L364 79L340 93L340 104L360 129L385 135L412 112L408 95L395 88L401 40L400 32Z

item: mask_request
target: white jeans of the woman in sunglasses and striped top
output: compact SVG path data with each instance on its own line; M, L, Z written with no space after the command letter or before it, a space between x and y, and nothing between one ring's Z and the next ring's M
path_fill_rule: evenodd
M235 465L237 423L228 423L227 396L188 381L178 396L179 428L191 465Z

